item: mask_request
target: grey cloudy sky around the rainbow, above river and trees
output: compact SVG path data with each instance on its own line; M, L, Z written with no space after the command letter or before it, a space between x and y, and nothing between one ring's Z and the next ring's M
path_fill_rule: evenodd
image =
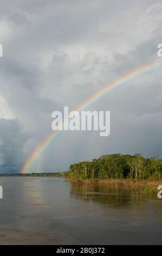
M158 0L0 0L0 173L18 173L52 132L51 113L157 59ZM29 172L61 172L101 155L162 157L161 69L106 94L111 133L63 131Z

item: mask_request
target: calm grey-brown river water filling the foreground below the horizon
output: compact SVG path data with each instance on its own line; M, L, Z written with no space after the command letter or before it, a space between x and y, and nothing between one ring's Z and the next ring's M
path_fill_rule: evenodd
M1 245L162 244L162 199L70 184L61 178L1 177Z

